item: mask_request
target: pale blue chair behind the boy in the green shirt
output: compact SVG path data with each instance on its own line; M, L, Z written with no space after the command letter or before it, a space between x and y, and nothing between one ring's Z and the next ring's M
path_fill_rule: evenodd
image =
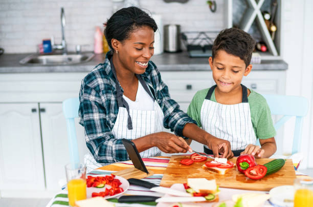
M274 127L277 131L292 117L296 117L292 154L300 151L303 117L308 111L308 101L301 96L263 95L273 115L283 115Z

